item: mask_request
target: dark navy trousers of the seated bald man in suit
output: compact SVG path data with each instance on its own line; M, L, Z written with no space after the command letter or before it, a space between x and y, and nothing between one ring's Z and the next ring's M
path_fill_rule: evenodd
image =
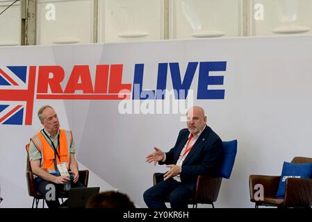
M165 200L169 197L170 206L174 210L188 208L188 200L192 196L193 192L188 187L173 178L158 182L143 194L147 207L158 209L167 208Z

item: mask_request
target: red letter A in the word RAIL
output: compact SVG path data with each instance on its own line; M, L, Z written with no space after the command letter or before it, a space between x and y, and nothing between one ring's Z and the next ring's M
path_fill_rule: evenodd
M81 79L81 83L79 83ZM72 74L69 77L65 93L74 94L76 90L82 90L85 94L92 94L92 80L88 65L76 65L72 69Z

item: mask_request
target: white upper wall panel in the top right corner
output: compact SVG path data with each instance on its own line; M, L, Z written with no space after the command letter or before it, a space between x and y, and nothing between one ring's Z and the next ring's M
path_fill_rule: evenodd
M252 0L249 32L251 35L311 33L311 9L311 0Z

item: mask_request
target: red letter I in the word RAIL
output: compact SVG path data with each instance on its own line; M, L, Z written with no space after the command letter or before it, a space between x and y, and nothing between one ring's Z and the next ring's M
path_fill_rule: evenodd
M109 65L97 65L95 74L95 93L107 93Z

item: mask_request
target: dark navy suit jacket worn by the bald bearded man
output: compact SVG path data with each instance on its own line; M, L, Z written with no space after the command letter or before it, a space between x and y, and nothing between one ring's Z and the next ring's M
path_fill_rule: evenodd
M174 148L166 153L165 162L159 162L159 164L176 164L183 146L188 141L188 135L190 135L190 132L187 128L181 130ZM206 126L183 161L180 174L181 182L192 191L195 191L197 176L217 176L222 155L222 140L209 126Z

